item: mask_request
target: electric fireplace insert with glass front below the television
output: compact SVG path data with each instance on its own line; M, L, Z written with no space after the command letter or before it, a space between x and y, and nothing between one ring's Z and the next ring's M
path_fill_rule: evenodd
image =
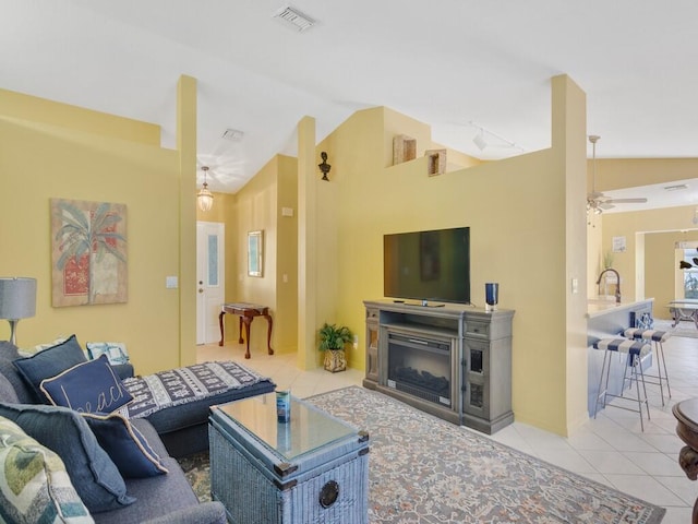
M389 333L388 388L453 407L450 355L448 340Z

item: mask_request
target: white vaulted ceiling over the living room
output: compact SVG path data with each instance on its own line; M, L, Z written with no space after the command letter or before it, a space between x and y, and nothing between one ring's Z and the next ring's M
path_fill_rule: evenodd
M158 123L173 147L177 82L192 75L214 191L294 155L303 116L322 140L372 106L480 158L549 147L559 73L587 93L599 158L698 156L694 0L293 0L317 21L304 33L272 19L284 4L0 0L0 87Z

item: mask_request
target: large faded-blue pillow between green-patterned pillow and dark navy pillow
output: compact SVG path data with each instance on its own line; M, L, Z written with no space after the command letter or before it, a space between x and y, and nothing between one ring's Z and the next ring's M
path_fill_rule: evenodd
M89 512L116 510L135 502L127 495L119 469L77 412L45 405L0 404L0 417L14 421L61 457Z

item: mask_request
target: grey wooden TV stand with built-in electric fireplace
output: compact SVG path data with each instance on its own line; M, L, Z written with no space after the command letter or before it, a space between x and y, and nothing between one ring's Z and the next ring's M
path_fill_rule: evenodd
M454 424L493 433L514 421L512 412L512 320L514 311L485 312L472 305L364 301L366 370L364 388L376 390ZM430 398L394 379L396 367L420 347L416 362L443 376L446 393ZM431 348L438 347L438 352ZM396 360L397 364L390 364ZM438 373L434 373L434 369Z

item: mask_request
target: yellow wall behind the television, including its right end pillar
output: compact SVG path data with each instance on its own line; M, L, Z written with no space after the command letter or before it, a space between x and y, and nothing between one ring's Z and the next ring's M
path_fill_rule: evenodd
M586 419L586 379L577 378L586 377L586 160L583 145L569 145L583 144L586 129L583 94L566 78L557 84L554 111L565 112L555 121L564 135L562 152L429 177L423 156L389 165L394 134L417 138L423 151L419 141L430 141L431 133L385 108L358 111L318 144L316 158L326 151L333 170L329 182L316 182L316 325L327 320L358 333L359 352L349 358L362 368L362 301L383 296L383 235L470 226L472 301L482 306L484 283L495 281L501 307L516 310L517 420L566 434ZM580 211L568 218L573 204ZM573 226L566 226L568 219ZM574 298L570 275L580 283ZM571 378L569 361L577 373Z

